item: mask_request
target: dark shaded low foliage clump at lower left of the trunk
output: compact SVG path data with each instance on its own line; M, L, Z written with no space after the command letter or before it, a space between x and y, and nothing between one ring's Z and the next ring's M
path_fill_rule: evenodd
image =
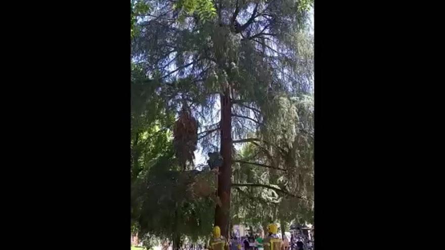
M200 196L205 192L195 185L204 181L214 193L214 176L208 171L179 171L170 156L159 159L133 184L132 203L137 208L133 220L142 238L174 238L180 234L196 241L211 232L214 202L211 195ZM145 237L147 242L150 237Z

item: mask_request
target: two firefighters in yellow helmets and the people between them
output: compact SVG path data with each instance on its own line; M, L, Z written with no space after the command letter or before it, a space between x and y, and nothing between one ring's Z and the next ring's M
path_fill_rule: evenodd
M220 228L215 226L213 228L213 238L209 242L209 250L288 250L277 232L277 225L270 224L268 226L268 235L264 238L256 235L252 242L253 237L250 237L250 239L249 237L244 237L240 240L232 237L229 243L224 236L221 236Z

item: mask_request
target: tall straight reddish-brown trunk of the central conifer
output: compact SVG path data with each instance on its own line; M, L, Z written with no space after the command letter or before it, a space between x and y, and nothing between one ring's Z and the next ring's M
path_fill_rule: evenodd
M227 87L221 100L221 144L220 151L223 158L219 167L218 196L222 207L216 205L215 225L221 229L221 235L229 237L230 220L230 188L232 184L232 103L230 102L230 88Z

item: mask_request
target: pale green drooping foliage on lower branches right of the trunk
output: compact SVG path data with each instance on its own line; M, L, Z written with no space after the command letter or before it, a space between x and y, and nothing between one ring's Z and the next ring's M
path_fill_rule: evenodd
M232 195L232 219L249 225L314 220L314 101L311 95L275 95L275 106L258 134L264 141L245 144L236 156L285 169L250 164L233 166L233 182L259 183L291 195L258 187L238 187Z

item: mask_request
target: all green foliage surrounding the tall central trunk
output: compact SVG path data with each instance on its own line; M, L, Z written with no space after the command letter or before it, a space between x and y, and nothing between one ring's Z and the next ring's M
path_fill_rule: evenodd
M234 147L233 158L286 170L233 164L232 182L271 188L233 187L232 222L265 227L313 218L311 6L312 0L132 2L131 206L135 230L147 245L209 235L214 176L181 168L171 131L186 105L202 133L196 138L193 128L193 141L184 140L193 142L191 149L183 155L191 156L195 140L204 152L219 151L214 110L229 86L238 101L234 140L258 138L241 152Z

